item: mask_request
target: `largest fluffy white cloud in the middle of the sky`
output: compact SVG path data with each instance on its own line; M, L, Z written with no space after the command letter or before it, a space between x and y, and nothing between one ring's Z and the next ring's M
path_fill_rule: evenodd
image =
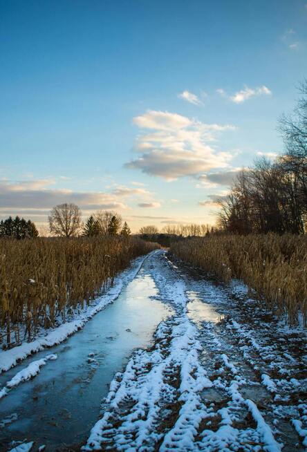
M175 180L227 167L232 158L230 153L217 151L208 142L216 140L219 132L235 129L234 126L204 124L161 111L147 111L133 121L142 129L154 131L138 137L135 150L140 156L125 164L127 168Z

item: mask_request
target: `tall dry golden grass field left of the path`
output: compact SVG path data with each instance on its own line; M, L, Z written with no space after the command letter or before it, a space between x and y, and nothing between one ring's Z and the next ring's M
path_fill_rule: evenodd
M18 344L65 321L156 247L131 237L1 239L0 340Z

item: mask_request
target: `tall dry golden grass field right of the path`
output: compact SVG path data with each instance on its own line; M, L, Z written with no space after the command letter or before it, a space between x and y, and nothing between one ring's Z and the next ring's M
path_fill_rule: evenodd
M170 251L224 282L239 278L279 317L307 324L307 236L212 235L187 238Z

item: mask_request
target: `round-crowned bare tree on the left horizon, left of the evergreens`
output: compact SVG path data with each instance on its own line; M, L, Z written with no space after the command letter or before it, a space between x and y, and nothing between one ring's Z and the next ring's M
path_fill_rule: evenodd
M51 234L63 237L76 236L81 228L81 211L73 203L59 204L50 211L48 220Z

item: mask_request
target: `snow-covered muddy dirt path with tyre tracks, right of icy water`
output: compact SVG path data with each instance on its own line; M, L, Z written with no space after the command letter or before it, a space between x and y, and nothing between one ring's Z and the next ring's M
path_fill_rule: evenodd
M302 333L163 253L146 271L176 314L115 375L84 451L304 451Z

